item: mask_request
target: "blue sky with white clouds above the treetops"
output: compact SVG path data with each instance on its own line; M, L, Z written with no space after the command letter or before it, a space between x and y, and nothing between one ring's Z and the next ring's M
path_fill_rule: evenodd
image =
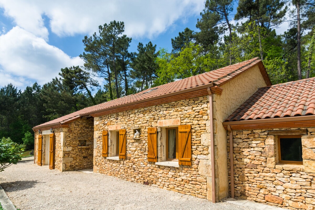
M0 0L0 87L43 85L61 68L83 65L82 39L112 20L125 23L129 52L149 41L170 51L171 38L186 27L197 30L203 8L204 0Z

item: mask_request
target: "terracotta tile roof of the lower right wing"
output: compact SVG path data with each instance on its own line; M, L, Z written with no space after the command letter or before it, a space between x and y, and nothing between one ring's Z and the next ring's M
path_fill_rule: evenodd
M315 77L259 88L225 122L315 115Z

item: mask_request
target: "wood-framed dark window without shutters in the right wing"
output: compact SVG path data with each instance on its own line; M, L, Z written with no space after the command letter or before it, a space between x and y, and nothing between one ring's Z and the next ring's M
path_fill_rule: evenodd
M278 136L279 163L302 164L301 136Z

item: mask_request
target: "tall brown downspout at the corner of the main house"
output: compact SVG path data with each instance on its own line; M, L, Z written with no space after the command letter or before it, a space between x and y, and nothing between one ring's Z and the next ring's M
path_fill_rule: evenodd
M212 184L212 202L215 203L215 146L213 135L213 109L212 109L212 94L208 88L209 94L209 118L210 118L210 150L211 150L211 184Z

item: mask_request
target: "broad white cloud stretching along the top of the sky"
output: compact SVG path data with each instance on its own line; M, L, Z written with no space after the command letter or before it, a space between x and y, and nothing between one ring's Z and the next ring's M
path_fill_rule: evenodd
M47 40L43 14L49 17L51 31L58 36L92 34L99 25L124 21L129 37L151 38L164 32L176 20L199 14L204 0L117 0L117 1L10 1L0 3L5 14L21 28Z

